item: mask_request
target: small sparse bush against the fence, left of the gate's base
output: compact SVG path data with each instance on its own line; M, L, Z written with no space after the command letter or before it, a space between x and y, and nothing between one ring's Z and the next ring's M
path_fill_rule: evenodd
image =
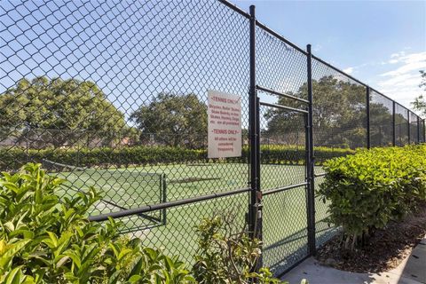
M198 255L193 275L201 284L281 283L268 268L252 272L261 255L261 242L245 230L235 232L233 217L205 218L197 227Z

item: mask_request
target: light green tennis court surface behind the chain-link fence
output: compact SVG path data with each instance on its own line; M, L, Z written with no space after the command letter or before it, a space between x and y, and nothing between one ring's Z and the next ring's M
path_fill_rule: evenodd
M73 171L58 175L68 180L62 195L73 194L76 189L87 186L102 190L103 201L96 204L91 213L97 215L246 188L248 170L247 164L209 163ZM267 192L301 184L304 183L304 175L303 165L264 164L261 167L261 186ZM143 216L123 217L123 230L141 238L148 246L164 248L171 255L192 261L197 247L194 228L201 218L230 212L235 216L235 225L242 228L248 211L248 197L248 193L239 193ZM317 203L317 221L321 223L326 217L327 206ZM280 270L306 254L305 187L265 195L263 205L264 264L271 266L272 270ZM324 232L327 231L325 227Z

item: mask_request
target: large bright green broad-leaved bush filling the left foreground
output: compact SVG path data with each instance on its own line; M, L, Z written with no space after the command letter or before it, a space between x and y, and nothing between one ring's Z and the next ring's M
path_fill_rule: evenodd
M85 216L99 193L54 194L63 180L39 164L0 177L1 283L185 283L193 277L176 257L143 248Z

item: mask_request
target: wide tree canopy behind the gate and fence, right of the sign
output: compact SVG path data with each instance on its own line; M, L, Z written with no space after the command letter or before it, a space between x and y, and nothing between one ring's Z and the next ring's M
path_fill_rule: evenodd
M426 86L426 85L425 85ZM316 146L349 146L367 144L366 87L343 81L335 76L324 76L312 81L313 138ZM297 98L307 98L307 85L288 92ZM371 95L370 95L371 96ZM306 105L294 99L280 97L278 104L304 109ZM425 104L426 106L426 104ZM268 109L264 113L264 137L288 144L304 144L304 115L296 112ZM396 114L397 124L405 126L402 114ZM295 135L295 132L299 135ZM300 135L302 134L302 135ZM392 143L392 110L370 97L370 138L372 146Z

